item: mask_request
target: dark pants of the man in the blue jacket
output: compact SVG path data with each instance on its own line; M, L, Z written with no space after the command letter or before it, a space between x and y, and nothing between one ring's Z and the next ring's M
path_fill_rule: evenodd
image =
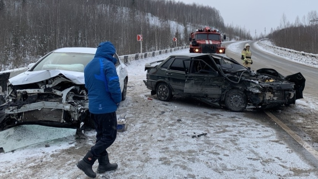
M96 144L91 148L91 153L95 156L106 155L106 149L111 146L117 136L116 112L105 114L92 114L96 134Z

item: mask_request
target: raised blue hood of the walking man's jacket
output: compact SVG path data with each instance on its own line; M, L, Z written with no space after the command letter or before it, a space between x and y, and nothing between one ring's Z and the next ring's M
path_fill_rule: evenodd
M117 63L117 59L113 57L113 55L116 53L116 49L114 45L109 42L102 42L100 45L98 45L95 57L94 58L105 58L111 62L114 63L114 65Z

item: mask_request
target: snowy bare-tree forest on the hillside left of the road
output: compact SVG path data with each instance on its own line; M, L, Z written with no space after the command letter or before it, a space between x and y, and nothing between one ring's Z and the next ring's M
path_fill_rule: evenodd
M153 16L160 20L153 22ZM140 53L137 34L143 35L142 52L175 47L173 37L178 46L188 45L198 24L230 39L251 39L245 29L225 26L215 8L174 0L0 0L0 24L0 71L24 67L57 48L96 47L106 40L119 55Z

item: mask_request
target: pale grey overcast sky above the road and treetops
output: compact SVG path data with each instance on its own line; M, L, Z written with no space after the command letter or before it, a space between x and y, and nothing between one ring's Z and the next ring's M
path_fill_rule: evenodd
M302 17L311 10L318 10L318 0L176 0L183 3L193 2L199 5L209 5L220 11L225 25L239 25L248 31L252 37L259 35L260 32L268 34L273 28L280 25L280 19L285 12L287 20L295 22L298 15L302 22ZM202 24L205 25L205 24Z

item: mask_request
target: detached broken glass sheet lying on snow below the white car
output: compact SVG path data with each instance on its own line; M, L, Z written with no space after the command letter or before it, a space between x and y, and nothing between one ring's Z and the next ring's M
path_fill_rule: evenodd
M51 141L76 134L76 129L21 125L0 132L0 148L9 152L44 141Z

